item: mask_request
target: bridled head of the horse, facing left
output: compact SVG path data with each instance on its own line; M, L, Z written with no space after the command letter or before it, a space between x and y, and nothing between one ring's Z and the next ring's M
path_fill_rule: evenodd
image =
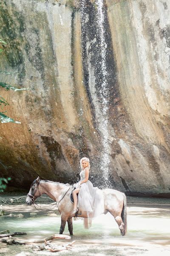
M39 190L40 177L37 177L37 180L34 180L31 184L31 188L27 194L26 203L31 205L34 204L34 201L37 197L41 196L42 193Z

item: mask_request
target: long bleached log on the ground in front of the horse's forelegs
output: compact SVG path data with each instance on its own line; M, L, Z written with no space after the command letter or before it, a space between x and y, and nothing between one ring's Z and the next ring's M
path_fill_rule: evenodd
M71 239L71 236L55 234L53 236L48 236L48 237L45 237L43 239L14 240L13 244L44 243L45 241L53 240L53 239L56 239L56 238Z

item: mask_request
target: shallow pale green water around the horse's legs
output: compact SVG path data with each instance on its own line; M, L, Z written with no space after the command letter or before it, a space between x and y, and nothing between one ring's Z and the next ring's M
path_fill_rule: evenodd
M50 206L42 207L42 211L37 212L35 217L29 216L29 210L35 211L29 206L6 206L8 213L23 213L24 218L0 218L0 230L8 229L10 232L27 232L25 239L44 238L46 236L59 233L60 216L49 216ZM4 207L5 208L5 207ZM56 210L55 210L56 211ZM170 206L168 205L136 205L127 207L128 233L120 236L119 228L111 214L101 215L94 219L89 230L83 228L83 221L80 218L73 221L74 237L76 244L84 246L107 245L116 247L139 247L139 248L159 248L170 249ZM46 214L46 216L44 216ZM48 214L48 215L47 215ZM69 235L66 225L65 235ZM62 241L61 241L62 242ZM123 248L123 247L122 247ZM123 250L123 249L122 249ZM169 251L170 252L170 251ZM119 254L117 254L119 255ZM134 254L138 255L138 254ZM160 255L160 254L159 254ZM165 254L162 254L165 255Z

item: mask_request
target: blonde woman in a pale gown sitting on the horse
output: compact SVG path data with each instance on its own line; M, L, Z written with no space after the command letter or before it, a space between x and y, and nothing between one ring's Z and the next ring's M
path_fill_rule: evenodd
M88 180L90 171L89 159L87 157L83 157L80 160L80 166L82 171L80 172L80 181L74 184L76 189L73 191L74 209L71 213L71 217L73 217L75 213L81 209L82 211L87 212L88 222L89 225L91 225L92 218L104 212L104 200L101 190L94 187L91 181ZM85 227L87 227L87 223L84 222L84 224Z

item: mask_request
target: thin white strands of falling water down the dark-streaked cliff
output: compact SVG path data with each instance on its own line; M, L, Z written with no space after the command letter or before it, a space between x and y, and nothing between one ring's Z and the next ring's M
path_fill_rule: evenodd
M81 2L81 20L82 20L82 38L84 40L88 40L86 36L86 28L85 23L87 22L88 13L86 10L87 0L82 0ZM105 42L105 17L104 17L104 5L103 0L97 0L96 1L96 29L97 29L97 35L96 38L98 38L98 49L100 53L100 60L96 65L100 67L100 71L98 72L97 76L99 76L100 82L96 84L96 87L99 87L99 94L100 94L100 100L101 105L98 108L96 107L96 113L98 113L98 116L96 115L96 123L98 125L98 130L102 133L102 145L101 145L101 164L100 169L102 172L102 181L103 181L103 188L109 186L109 145L108 145L108 137L109 137L109 129L108 129L108 72L107 72L107 65L106 65L106 56L107 56L107 44ZM83 59L85 61L85 59ZM90 61L89 61L90 62ZM97 60L96 60L97 62ZM96 82L95 82L96 83Z

